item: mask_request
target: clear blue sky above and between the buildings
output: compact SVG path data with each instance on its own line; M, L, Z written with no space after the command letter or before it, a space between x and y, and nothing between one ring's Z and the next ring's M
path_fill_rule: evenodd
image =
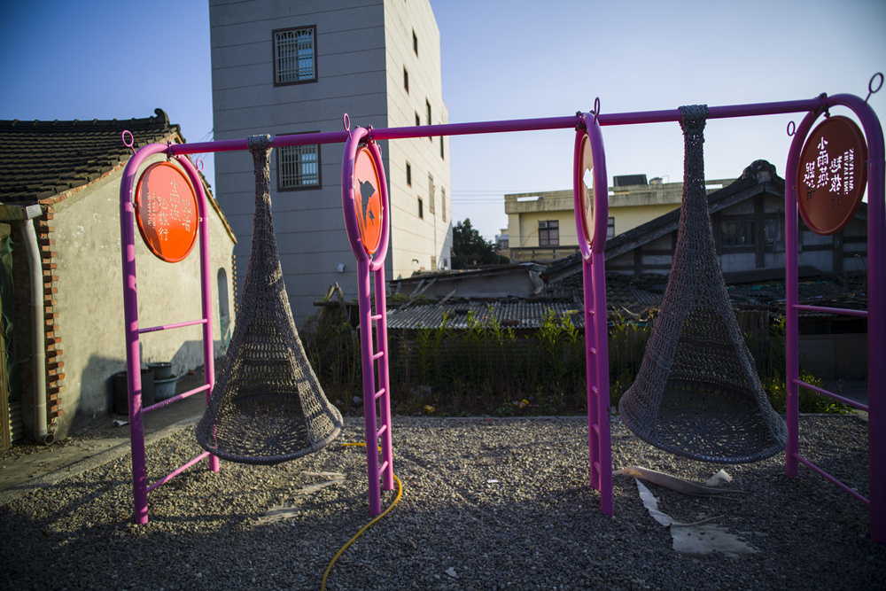
M741 3L431 0L452 122L867 95L886 71L883 0ZM0 119L147 117L161 107L190 141L211 137L207 3L0 3ZM871 97L886 116L886 89ZM705 170L755 159L784 174L791 117L709 121ZM508 192L571 187L570 131L451 140L455 220L491 239ZM610 175L680 181L676 123L603 129ZM211 159L206 173L214 174Z

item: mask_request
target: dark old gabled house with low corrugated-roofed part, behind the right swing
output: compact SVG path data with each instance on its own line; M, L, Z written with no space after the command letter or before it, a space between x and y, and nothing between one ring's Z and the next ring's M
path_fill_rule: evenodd
M746 311L740 323L768 330L768 318L784 309L784 179L765 160L753 162L741 178L708 196L713 236L727 291L734 308ZM648 320L661 305L680 223L680 210L641 224L606 242L606 301L613 314ZM800 222L799 263L801 303L834 307L867 306L865 261L867 258L867 204L862 204L849 225L833 236L819 236ZM464 328L466 317L497 319L515 330L536 330L553 311L568 315L583 329L577 311L582 301L580 255L554 261L540 272L544 287L532 296L513 295L519 283L509 268L488 269L494 288L476 278L458 274L428 275L391 282L392 291L402 284L436 299L416 299L392 309L389 329L396 337L404 330L436 327L444 315L453 328ZM517 267L512 267L518 268ZM525 275L525 273L524 273ZM436 281L431 287L427 285ZM421 282L421 283L419 283ZM482 292L486 288L486 293ZM471 290L471 288L474 288ZM410 291L400 292L408 294ZM439 296L450 294L442 300ZM469 299L464 299L465 297ZM823 379L864 379L867 369L867 330L855 317L804 314L801 318L801 355ZM744 324L742 324L742 327Z

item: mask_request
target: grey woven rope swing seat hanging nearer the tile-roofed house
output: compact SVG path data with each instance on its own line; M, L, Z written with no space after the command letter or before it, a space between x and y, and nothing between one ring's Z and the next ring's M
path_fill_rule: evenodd
M274 464L336 439L341 413L326 399L292 320L271 220L270 136L250 136L255 171L253 243L227 359L197 426L206 451Z

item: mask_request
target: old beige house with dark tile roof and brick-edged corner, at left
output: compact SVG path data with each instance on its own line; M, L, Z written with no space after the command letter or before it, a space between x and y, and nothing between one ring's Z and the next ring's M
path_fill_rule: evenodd
M0 251L7 254L0 340L9 354L0 363L0 399L11 406L0 408L0 420L12 422L13 439L22 429L36 439L65 438L113 408L109 378L125 362L120 177L132 152L124 130L136 148L184 141L160 109L128 121L0 121ZM234 308L236 240L210 203L222 316L214 334L223 344ZM170 264L137 245L141 325L200 316L197 260L195 251ZM198 330L164 331L144 343L143 362L173 362L179 374L202 363ZM2 445L9 430L0 432Z

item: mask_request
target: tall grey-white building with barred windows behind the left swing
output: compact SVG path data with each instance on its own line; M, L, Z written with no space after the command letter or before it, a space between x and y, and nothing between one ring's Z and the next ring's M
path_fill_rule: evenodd
M210 0L216 140L448 122L429 0ZM452 201L447 137L379 142L391 198L387 276L448 268ZM333 283L356 297L341 210L344 144L271 153L274 227L300 323ZM248 152L215 155L215 195L237 234L242 292L253 233ZM342 270L344 269L344 270Z

